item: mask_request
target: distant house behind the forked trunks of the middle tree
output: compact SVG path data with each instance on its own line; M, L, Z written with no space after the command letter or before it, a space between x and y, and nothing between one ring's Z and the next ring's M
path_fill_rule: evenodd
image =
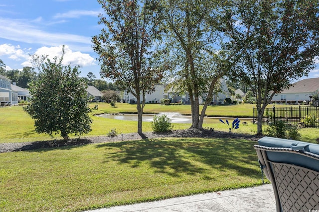
M217 94L213 95L213 99L211 101L212 104L223 104L226 98L230 98L230 93L224 79L220 79L220 91ZM199 104L203 104L206 100L208 93L204 93L200 99ZM174 86L169 88L167 91L168 99L171 103L184 103L190 104L189 93L188 92L180 92Z

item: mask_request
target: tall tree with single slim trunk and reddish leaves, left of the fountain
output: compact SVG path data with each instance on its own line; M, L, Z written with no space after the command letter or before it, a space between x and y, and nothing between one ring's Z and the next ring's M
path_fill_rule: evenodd
M101 76L114 80L137 99L138 133L142 133L145 95L162 77L155 66L159 36L153 0L98 0L105 11L99 24L106 28L93 37Z

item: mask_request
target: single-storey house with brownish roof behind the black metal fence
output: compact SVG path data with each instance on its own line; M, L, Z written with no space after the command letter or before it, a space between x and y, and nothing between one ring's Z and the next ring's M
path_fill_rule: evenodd
M294 83L289 89L275 94L272 102L302 103L311 100L312 93L319 90L319 78L303 79Z

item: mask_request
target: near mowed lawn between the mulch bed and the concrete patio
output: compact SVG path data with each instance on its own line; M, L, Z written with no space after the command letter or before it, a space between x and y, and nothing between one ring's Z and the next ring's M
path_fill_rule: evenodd
M0 154L0 211L82 211L261 185L255 142L150 139Z

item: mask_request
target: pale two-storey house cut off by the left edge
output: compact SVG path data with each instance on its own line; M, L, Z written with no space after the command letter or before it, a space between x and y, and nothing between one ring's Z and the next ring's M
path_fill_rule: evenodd
M18 94L16 92L12 92L11 82L12 82L12 80L6 78L5 76L0 75L0 102L1 102L1 105L4 105L4 104L16 105L16 104L18 104Z

